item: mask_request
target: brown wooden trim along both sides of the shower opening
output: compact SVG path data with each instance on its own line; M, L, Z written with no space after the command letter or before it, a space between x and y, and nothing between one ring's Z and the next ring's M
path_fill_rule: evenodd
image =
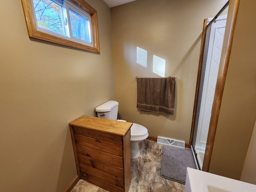
M220 57L220 66L218 70L218 77L216 82L216 89L214 94L214 101L212 104L212 116L210 118L210 125L208 131L208 137L206 142L206 149L204 154L204 162L202 166L202 170L208 172L210 167L210 160L212 157L212 150L214 145L214 138L216 134L217 124L218 124L218 117L220 114L220 106L224 91L224 86L226 82L226 75L228 70L228 63L232 48L232 41L234 36L234 28L236 25L236 18L238 14L238 7L239 7L240 0L229 0L226 5L220 10L220 12L214 17L217 18L221 12L228 7L228 16L226 21L226 30L224 34L223 46L222 46L222 54ZM206 24L207 20L204 20L204 28L202 32L202 42L201 42L201 49L200 49L200 59L198 65L198 76L197 76L197 84L196 84L196 93L195 93L195 101L194 101L194 111L192 116L192 126L190 132L190 145L192 145L192 141L195 139L193 138L195 130L195 120L196 120L196 109L198 106L198 93L199 93L199 85L201 79L201 70L202 70L202 62L203 62L203 55L204 55L204 44L206 40Z

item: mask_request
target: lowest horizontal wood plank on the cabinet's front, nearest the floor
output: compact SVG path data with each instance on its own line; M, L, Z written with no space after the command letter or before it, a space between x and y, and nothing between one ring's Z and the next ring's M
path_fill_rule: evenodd
M102 189L105 189L109 192L124 192L124 189L119 188L117 186L114 186L110 183L104 182L98 178L95 178L93 176L90 176L89 174L81 172L81 178L82 180L85 180L91 184L94 184Z

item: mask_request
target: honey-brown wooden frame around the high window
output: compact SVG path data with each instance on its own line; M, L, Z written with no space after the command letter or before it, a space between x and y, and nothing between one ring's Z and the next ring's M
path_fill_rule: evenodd
M33 5L31 0L21 0L24 16L26 20L26 26L28 30L28 36L32 38L48 41L48 42L53 42L56 44L61 44L61 45L81 49L81 50L100 53L97 11L84 0L70 0L70 1L91 15L93 47L80 44L77 42L73 42L71 40L67 40L67 39L57 37L57 36L47 34L45 32L41 32L37 30L37 22L36 22L36 18L34 18Z

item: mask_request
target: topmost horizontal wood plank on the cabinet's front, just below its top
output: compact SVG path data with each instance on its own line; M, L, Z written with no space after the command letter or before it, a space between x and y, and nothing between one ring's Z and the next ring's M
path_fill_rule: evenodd
M96 130L91 130L91 129L86 129L82 127L73 127L74 134L122 145L122 136L110 134L110 133L105 133L105 132L100 132Z

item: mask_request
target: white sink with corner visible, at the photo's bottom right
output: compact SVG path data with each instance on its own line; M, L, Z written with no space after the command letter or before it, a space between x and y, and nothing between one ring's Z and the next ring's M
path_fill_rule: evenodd
M187 168L185 192L256 192L256 185Z

